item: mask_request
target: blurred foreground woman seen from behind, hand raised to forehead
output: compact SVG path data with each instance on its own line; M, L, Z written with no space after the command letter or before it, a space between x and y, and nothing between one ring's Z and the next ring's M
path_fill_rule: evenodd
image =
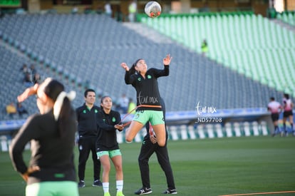
M19 102L36 95L41 114L31 115L12 140L10 156L14 168L26 181L26 195L78 195L73 162L76 115L71 100L76 93L63 91L63 84L47 78L27 88ZM23 158L26 143L31 142L29 166Z

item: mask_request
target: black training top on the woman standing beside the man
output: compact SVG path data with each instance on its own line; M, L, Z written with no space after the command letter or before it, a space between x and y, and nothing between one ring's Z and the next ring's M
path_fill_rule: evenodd
M119 149L115 125L120 123L120 113L110 110L107 114L104 110L98 113L98 139L96 140L96 151Z

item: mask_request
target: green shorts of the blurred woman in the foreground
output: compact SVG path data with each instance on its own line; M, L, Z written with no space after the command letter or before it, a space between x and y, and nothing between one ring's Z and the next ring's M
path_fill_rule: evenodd
M66 187L66 188L65 188ZM37 182L26 186L27 196L78 196L77 182L48 181Z

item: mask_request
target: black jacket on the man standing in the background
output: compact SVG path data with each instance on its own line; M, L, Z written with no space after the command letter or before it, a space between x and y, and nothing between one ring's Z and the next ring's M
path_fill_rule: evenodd
M76 109L79 136L97 136L97 114L99 111L100 108L98 106L93 105L89 109L85 103Z

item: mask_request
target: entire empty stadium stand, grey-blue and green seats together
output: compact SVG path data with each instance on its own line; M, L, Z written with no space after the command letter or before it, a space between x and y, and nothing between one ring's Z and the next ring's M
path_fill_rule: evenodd
M120 63L131 65L145 58L148 66L162 68L167 53L173 57L170 76L159 78L159 86L170 117L192 114L197 105L219 112L263 108L265 114L269 97L281 100L284 92L294 96L294 33L262 16L163 16L142 18L142 23L126 25L97 14L2 17L0 119L10 122L4 106L24 91L19 71L23 63L35 64L42 78L58 78L66 84L66 91L76 91L74 107L84 102L86 87L111 96L115 103L123 93L135 100L133 87L125 85ZM200 53L203 38L209 41L209 56ZM37 112L34 98L24 106L29 113ZM213 128L220 135L215 133L220 128ZM246 132L242 135L249 134Z

